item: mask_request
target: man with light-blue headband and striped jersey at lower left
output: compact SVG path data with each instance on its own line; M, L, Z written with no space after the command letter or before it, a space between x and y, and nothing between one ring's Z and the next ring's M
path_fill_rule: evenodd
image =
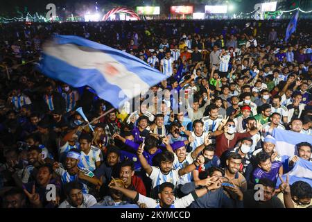
M80 152L73 148L71 151L67 153L66 162L65 162L65 168L60 167L60 164L58 162L53 163L53 171L55 171L58 176L61 177L62 185L65 185L69 182L78 180L79 182L83 183L83 193L87 194L89 192L89 183L101 186L102 182L101 180L98 180L96 176L94 176L94 173L92 171L89 171L85 168L79 168L78 162L80 159Z

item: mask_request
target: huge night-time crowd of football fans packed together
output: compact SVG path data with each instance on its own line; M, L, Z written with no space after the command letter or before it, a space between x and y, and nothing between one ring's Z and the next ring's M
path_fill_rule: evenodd
M311 207L311 183L281 178L299 160L311 162L311 143L282 160L272 135L312 135L312 22L300 20L285 42L287 24L1 24L1 206ZM141 95L135 112L97 119L112 108L105 98L37 69L53 34L123 50L168 78L150 88L153 104ZM173 112L181 89L193 101ZM263 196L255 198L259 185Z

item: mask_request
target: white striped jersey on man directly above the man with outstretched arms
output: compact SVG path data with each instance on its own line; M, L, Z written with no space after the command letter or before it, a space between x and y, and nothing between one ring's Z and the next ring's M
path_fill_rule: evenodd
M148 174L146 173L146 176ZM179 169L173 169L168 174L162 173L159 167L152 166L152 173L150 173L150 179L153 180L153 188L161 185L164 182L171 182L173 185L177 184L177 181L180 180Z

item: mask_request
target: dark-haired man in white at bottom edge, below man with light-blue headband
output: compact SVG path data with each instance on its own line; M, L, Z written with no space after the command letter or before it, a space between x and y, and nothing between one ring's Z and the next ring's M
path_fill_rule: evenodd
M83 194L83 185L78 181L69 182L65 194L67 199L58 208L89 208L97 203L94 196Z

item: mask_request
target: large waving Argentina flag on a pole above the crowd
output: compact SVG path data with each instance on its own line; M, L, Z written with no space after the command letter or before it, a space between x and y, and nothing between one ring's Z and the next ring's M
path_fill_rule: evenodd
M55 35L45 42L39 68L73 87L92 87L114 108L166 79L129 53L73 35Z

